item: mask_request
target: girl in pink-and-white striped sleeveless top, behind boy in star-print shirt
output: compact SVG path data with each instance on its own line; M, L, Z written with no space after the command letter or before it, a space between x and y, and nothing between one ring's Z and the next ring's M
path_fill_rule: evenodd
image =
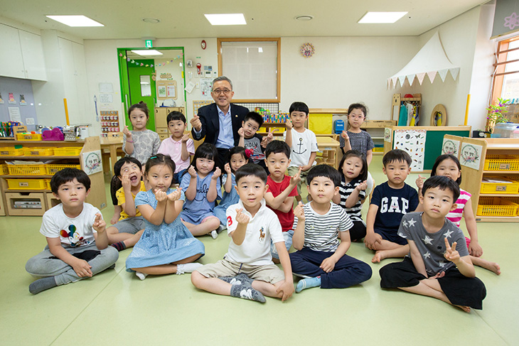
M449 154L438 156L432 166L431 176L433 175L445 175L452 180L456 180L456 183L459 185L461 183L461 164L459 163L458 158ZM421 195L424 186L424 178L422 178L421 175L418 175L416 184L418 194ZM471 194L460 188L459 198L456 200L456 209L449 212L446 218L459 227L461 216L465 217L466 229L470 236L470 239L467 237L465 239L467 247L469 248L472 263L499 275L501 274L501 267L497 263L481 258L483 249L478 243L478 228L476 226L476 218L474 217L470 198Z

